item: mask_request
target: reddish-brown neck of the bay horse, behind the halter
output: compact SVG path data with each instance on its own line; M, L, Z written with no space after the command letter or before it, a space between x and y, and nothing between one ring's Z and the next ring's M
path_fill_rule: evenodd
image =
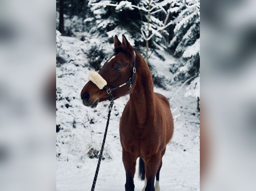
M138 54L138 53L137 53ZM136 81L133 91L130 93L131 111L136 114L138 123L145 123L153 119L155 113L155 95L153 79L150 69L138 54L136 66Z

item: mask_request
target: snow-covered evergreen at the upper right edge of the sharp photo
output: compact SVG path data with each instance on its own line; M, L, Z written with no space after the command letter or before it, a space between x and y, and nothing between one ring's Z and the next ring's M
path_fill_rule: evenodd
M178 16L169 48L180 58L173 79L181 80L200 73L200 0L177 0L172 5L170 12Z

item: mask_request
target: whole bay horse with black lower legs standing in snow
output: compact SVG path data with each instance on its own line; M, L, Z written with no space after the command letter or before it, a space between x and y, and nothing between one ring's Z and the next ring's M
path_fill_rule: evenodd
M80 98L84 105L95 108L101 101L130 95L119 127L125 191L134 191L138 157L139 177L145 180L143 191L159 191L162 157L173 134L173 117L168 99L153 91L147 63L126 37L122 37L121 43L115 35L114 54L98 73L89 75L90 81L82 89Z

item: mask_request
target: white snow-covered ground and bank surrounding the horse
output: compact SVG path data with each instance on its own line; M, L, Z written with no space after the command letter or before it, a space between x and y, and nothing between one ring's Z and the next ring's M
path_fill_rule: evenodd
M80 92L93 71L84 54L89 45L76 38L61 38L65 51L62 57L67 62L56 68L56 126L60 128L56 133L56 190L90 190L98 159L89 158L89 155L97 155L101 148L109 102L99 103L95 109L82 105ZM164 55L165 61L150 60L158 74L166 78L166 90L156 87L154 90L171 100L180 84L168 84L171 79L169 67L176 60L169 54ZM175 118L174 134L163 156L161 191L200 190L200 115L197 99L184 97L185 88L170 103ZM129 95L114 101L96 191L125 190L119 120L128 99ZM144 186L144 181L138 179L137 170L134 184L135 191Z

